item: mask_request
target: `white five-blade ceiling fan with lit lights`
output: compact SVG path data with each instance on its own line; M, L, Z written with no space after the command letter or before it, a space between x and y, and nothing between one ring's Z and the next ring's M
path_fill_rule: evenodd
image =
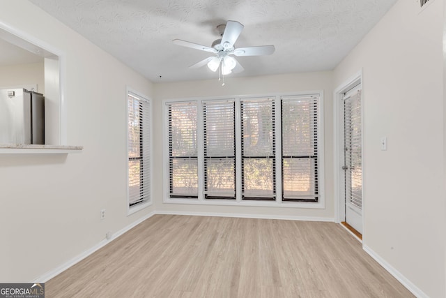
M180 39L174 39L172 41L176 45L191 47L192 49L211 52L214 54L214 56L203 59L190 66L190 68L199 68L207 64L208 68L214 72L220 68L220 73L222 75L229 75L229 73L240 73L244 70L244 68L231 55L238 57L261 56L272 54L275 51L274 45L239 48L234 47L234 43L236 43L238 36L240 36L243 27L243 24L236 21L228 21L226 24L218 25L217 30L220 33L221 38L215 40L210 47L207 47L206 45L199 45L197 43L190 43L189 41Z

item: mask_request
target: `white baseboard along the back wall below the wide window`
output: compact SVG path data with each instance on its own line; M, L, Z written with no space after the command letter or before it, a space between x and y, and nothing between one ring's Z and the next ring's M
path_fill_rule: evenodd
M238 213L230 214L230 213L166 211L166 210L157 210L157 211L155 211L155 214L282 219L282 220L288 220L288 221L327 221L330 223L334 222L334 218L331 218L331 217L313 217L313 216L285 216L285 215L238 214Z

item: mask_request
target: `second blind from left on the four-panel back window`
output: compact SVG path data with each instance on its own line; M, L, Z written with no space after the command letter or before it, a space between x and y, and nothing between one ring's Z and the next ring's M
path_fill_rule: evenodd
M204 197L236 199L234 100L203 102Z

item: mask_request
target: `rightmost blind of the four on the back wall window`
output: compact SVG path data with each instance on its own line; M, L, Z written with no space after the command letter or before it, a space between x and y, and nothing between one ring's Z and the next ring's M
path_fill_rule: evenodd
M282 96L282 200L318 201L318 96Z

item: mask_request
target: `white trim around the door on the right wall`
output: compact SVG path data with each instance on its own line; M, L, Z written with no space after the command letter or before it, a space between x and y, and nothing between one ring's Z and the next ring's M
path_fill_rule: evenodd
M340 84L339 87L333 91L333 135L334 135L334 221L336 223L341 223L345 221L345 189L341 187L344 184L344 170L342 166L344 165L344 109L342 105L342 100L346 91L355 87L357 84L362 84L362 89L364 89L364 84L362 81L362 69L355 73L352 77L348 78L344 83ZM364 92L362 92L364 94ZM362 95L362 99L364 95ZM364 105L361 105L361 118L362 124L364 124ZM364 125L362 125L362 181L364 181ZM362 236L364 237L364 183L362 184Z

